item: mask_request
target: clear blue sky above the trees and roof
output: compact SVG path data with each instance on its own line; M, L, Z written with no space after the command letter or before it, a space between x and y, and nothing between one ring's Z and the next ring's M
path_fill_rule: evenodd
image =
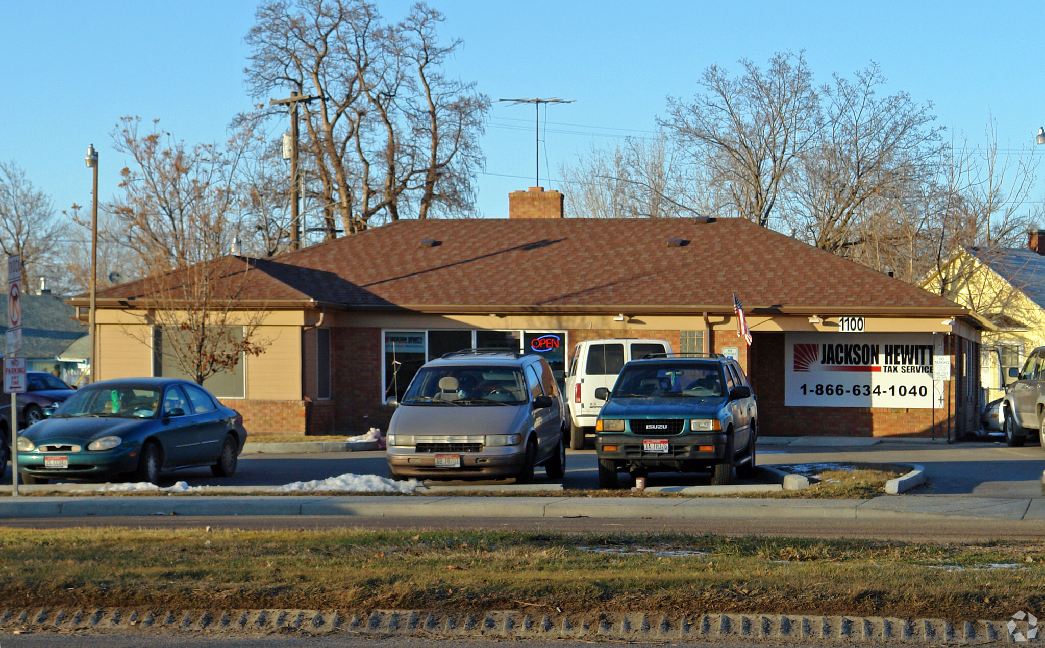
M408 0L381 0L387 19ZM1034 146L1045 123L1040 2L613 2L433 0L443 33L464 39L450 71L501 97L560 97L541 152L541 184L590 142L644 135L666 96L691 96L701 70L805 49L818 82L872 61L890 92L931 100L938 123L980 144L993 113L1003 148ZM160 118L187 142L223 140L250 106L242 69L250 0L0 2L0 159L14 160L56 209L90 203L89 143L102 200L122 166L110 133L122 115ZM542 111L543 116L543 111ZM275 134L275 131L274 131ZM507 215L533 184L533 109L494 105L479 205ZM1042 147L1045 153L1045 146ZM547 162L552 180L545 180ZM1045 167L1043 167L1045 168ZM1031 199L1041 201L1039 183Z

